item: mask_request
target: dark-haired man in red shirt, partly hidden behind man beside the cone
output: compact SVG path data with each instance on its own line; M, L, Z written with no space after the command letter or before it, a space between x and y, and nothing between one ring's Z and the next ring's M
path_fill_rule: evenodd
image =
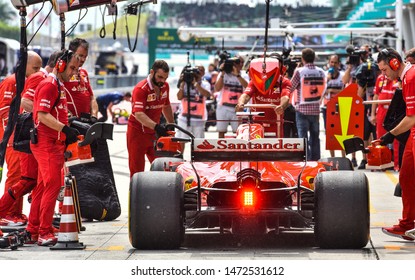
M69 43L68 49L78 57L80 62L77 74L65 82L69 115L80 117L82 113L86 113L96 121L98 104L94 98L88 72L82 68L88 58L89 43L84 39L75 38Z

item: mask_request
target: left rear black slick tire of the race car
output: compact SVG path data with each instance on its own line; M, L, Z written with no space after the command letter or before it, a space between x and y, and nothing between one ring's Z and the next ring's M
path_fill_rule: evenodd
M130 183L128 229L137 249L176 249L184 237L183 179L175 172L139 172Z

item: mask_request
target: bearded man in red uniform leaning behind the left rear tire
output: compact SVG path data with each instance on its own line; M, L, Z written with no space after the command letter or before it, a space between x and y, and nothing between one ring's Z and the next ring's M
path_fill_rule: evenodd
M145 156L150 162L155 159L154 140L167 135L164 125L159 124L161 113L167 123L174 123L169 100L169 65L156 60L147 79L139 82L133 90L132 113L128 119L127 149L130 177L144 171Z

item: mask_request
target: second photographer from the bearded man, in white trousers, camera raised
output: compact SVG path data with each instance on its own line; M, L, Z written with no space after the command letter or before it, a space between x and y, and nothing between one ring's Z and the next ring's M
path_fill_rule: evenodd
M235 106L242 95L244 89L248 86L248 76L241 75L244 60L242 57L233 57L225 59L219 66L220 74L215 83L215 92L219 92L217 99L218 107L216 109L216 119L218 120L216 128L219 138L224 138L228 130L228 124L231 125L235 133L238 127Z

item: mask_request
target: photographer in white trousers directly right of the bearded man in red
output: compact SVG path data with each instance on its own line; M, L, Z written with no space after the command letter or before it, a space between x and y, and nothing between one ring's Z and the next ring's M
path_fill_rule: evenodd
M180 76L180 87L177 92L177 99L181 101L177 124L192 132L196 138L205 137L206 99L210 97L210 83L202 79L203 74L202 65L196 68L186 66ZM186 135L178 130L176 137Z

